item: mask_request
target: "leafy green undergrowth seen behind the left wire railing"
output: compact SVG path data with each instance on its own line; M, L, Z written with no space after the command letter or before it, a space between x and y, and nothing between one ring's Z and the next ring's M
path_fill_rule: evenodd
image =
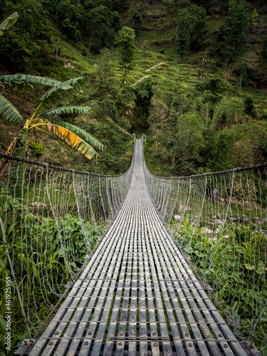
M22 206L21 202L10 198L6 201L5 189L0 192L0 209L6 214L5 235L7 247L14 258L14 272L19 277L21 297L28 300L28 318L33 321L30 325L31 333L36 330L39 320L45 320L50 313L51 306L58 302L58 295L64 292L66 283L71 275L66 261L71 263L72 271L78 272L85 261L85 256L93 250L98 241L98 234L90 221L80 221L78 216L67 214L64 219L58 219L59 225L45 211L33 213L33 205ZM42 213L42 214L41 214ZM16 219L14 219L16 217ZM81 231L83 224L83 232ZM101 230L101 226L99 226ZM85 241L86 234L87 239ZM6 277L10 276L6 263L6 248L0 230L0 266L1 266L1 301L5 300ZM63 239L63 243L61 241ZM31 241L31 243L30 243ZM88 252L89 251L89 252ZM64 255L67 258L64 258ZM27 286L27 288L23 288ZM11 281L11 294L15 290ZM0 303L0 350L6 355L4 335L6 335L5 303ZM23 320L19 298L12 302L12 319ZM16 323L11 350L28 337L25 323Z

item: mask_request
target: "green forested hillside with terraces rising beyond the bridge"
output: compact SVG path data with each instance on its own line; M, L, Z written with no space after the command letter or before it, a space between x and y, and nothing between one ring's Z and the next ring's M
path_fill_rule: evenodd
M147 164L159 175L266 161L267 1L0 0L0 9L0 23L19 14L0 36L0 75L83 76L57 105L90 111L58 120L105 145L88 161L33 130L26 157L38 141L39 160L118 174L130 164L130 134L145 132ZM25 119L48 90L0 88ZM0 118L1 152L24 123Z

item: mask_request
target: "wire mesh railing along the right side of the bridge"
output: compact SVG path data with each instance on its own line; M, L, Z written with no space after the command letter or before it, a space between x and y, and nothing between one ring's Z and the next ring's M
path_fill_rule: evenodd
M236 336L267 352L267 163L192 177L144 171L162 220Z

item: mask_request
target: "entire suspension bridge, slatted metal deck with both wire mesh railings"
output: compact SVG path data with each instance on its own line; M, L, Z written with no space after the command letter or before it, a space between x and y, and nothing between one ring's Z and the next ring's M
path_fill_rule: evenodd
M31 164L28 160L26 163ZM31 189L27 189L28 196L24 197L28 204L33 201L31 204L36 209L31 211L31 219L41 211L43 216L51 214L57 221L58 235L64 245L66 231L59 226L64 213L62 206L70 206L66 201L71 200L73 192L75 198L71 204L75 206L82 231L87 214L95 221L102 215L106 221L112 220L112 224L94 253L88 256L80 276L78 271L71 271L70 261L75 256L70 258L65 252L63 258L75 283L69 286L70 292L38 340L33 341L33 338L23 342L16 355L261 355L252 342L241 337L237 327L240 329L242 325L229 317L227 322L222 317L223 312L224 315L226 313L218 300L214 304L209 297L212 295L211 287L201 283L199 273L193 273L193 261L177 246L165 224L172 219L174 212L181 214L176 216L177 231L182 235L182 224L185 224L182 221L190 213L192 230L187 230L187 239L180 244L187 251L189 246L192 247L199 223L205 226L205 220L211 228L209 219L215 219L217 224L213 226L217 230L217 238L207 237L212 234L211 230L206 232L206 238L210 240L206 247L211 248L209 243L214 243L214 256L210 261L204 254L199 257L199 261L206 262L205 268L212 270L219 246L216 241L226 238L226 222L238 219L237 224L248 223L244 220L247 203L244 202L241 212L238 209L238 217L232 207L232 204L237 204L237 192L241 197L246 195L242 179L248 183L247 209L252 209L253 204L256 206L256 214L250 214L247 219L265 219L266 209L253 194L258 192L261 183L266 184L266 180L258 182L253 168L180 179L155 177L145 165L141 140L135 142L129 171L113 178L84 172L79 174L70 169L57 173L55 177L56 167L50 167L49 173L48 165L40 164L40 167L42 165L43 180L38 179L39 186L35 180L33 186L39 200L34 204ZM256 170L258 172L265 167L262 165ZM36 179L36 172L31 169L25 169L25 172ZM253 172L253 181L248 171ZM246 175L241 177L243 172ZM236 179L241 189L234 183ZM67 184L70 180L71 184ZM40 194L42 182L46 182L46 197ZM28 187L31 183L28 179ZM59 186L63 189L61 197L57 194L60 189L56 189ZM211 193L212 199L207 199ZM61 207L56 202L60 202ZM38 229L44 234L42 225ZM259 224L257 229L261 229ZM263 229L266 228L262 226L261 234L265 233ZM236 252L236 261L237 255ZM251 278L261 287L255 281L254 270L251 268ZM265 266L260 274L264 273ZM50 283L47 282L48 274L43 276L46 279L44 283ZM58 276L58 281L60 279ZM264 287L262 300L266 293ZM260 301L258 297L260 317L265 313L263 302L265 300ZM24 313L28 319L27 310ZM258 314L251 318L249 330L255 331L261 323Z

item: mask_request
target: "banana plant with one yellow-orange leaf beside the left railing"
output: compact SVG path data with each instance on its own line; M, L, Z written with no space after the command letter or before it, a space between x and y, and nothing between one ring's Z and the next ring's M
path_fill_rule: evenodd
M90 135L90 133L68 122L55 120L55 117L60 117L60 115L63 114L75 113L78 115L86 113L90 110L88 106L61 106L51 108L51 105L55 104L63 95L77 89L82 80L83 77L79 77L61 82L53 78L25 74L0 76L0 84L2 84L4 88L23 89L33 84L42 84L51 87L51 89L38 100L33 115L26 118L23 129L19 132L18 137L15 137L6 153L25 158L28 134L31 130L45 132L50 136L52 135L52 137L59 137L88 159L91 159L94 155L98 155L91 145L103 151L104 146L95 139L95 137ZM6 120L13 125L17 125L24 120L19 110L5 98L3 93L0 93L0 114L6 117ZM3 167L4 162L1 162L0 170ZM21 198L23 195L23 172L24 164L22 162L14 164L12 177L15 182L14 192L16 198Z

